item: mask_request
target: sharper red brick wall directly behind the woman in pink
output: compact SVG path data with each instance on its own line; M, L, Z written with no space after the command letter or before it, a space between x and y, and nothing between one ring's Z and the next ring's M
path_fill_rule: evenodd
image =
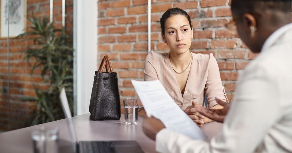
M159 19L168 8L189 13L194 27L191 51L213 53L227 96L232 101L238 73L255 57L224 25L232 18L230 0L152 0L151 48L169 51L161 39ZM108 54L118 72L121 99L135 97L131 79L143 80L147 55L147 0L98 2L98 56ZM122 105L122 103L121 103Z

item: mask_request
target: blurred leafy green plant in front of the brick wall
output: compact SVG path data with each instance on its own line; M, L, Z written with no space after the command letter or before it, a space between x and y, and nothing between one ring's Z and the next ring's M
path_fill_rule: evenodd
M29 124L36 125L64 118L59 99L64 87L70 109L73 108L73 48L72 39L64 28L56 29L48 17L27 17L32 23L27 32L17 38L33 40L34 46L24 50L26 61L33 61L31 75L36 68L41 68L44 82L49 84L47 90L34 85L36 97L22 97L24 101L35 101L36 109L29 119Z

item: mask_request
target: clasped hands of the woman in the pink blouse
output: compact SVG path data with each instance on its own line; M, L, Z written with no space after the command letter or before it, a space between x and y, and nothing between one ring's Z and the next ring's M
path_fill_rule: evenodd
M198 105L196 102L192 102L192 105L188 106L185 109L185 113L199 126L201 127L204 124L204 116L201 115L195 107L203 107L201 105Z

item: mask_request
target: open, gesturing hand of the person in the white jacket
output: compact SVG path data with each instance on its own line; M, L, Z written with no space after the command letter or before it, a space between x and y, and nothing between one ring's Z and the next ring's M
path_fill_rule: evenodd
M223 106L222 109L210 109L210 108L203 108L203 107L196 106L196 110L200 114L210 119L213 119L214 121L223 123L225 116L229 110L230 104L217 98L215 100L217 101L219 105Z

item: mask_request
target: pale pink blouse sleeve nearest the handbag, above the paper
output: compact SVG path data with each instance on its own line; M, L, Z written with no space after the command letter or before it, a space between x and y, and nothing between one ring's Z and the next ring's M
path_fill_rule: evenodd
M154 68L154 52L150 51L146 56L144 65L144 81L158 80L157 71Z

